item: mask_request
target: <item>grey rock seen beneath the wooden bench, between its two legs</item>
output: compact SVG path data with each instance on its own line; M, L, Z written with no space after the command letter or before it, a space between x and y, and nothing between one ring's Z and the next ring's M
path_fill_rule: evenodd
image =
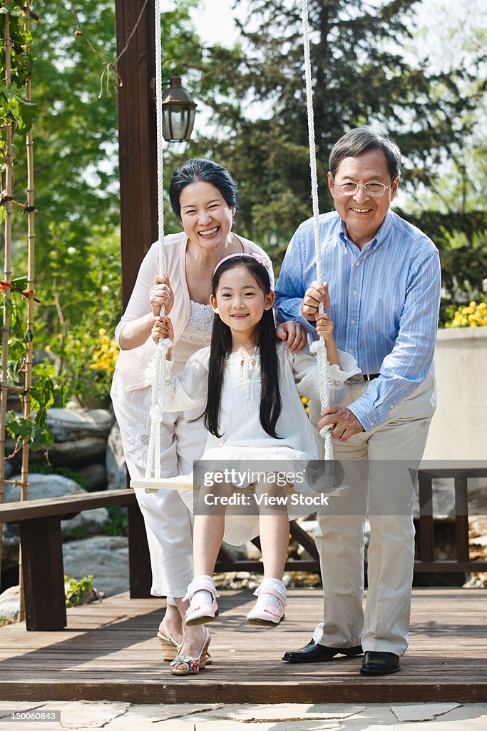
M129 591L129 539L96 536L63 547L64 573L80 580L93 574L93 586L105 596Z

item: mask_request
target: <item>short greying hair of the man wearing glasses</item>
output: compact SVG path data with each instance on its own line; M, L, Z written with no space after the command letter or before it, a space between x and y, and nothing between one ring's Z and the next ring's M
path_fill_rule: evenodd
M401 151L399 145L385 135L379 135L370 127L356 127L350 129L346 135L340 137L331 148L329 171L335 177L338 166L345 157L357 157L369 150L382 150L386 156L387 167L391 173L391 181L401 175Z

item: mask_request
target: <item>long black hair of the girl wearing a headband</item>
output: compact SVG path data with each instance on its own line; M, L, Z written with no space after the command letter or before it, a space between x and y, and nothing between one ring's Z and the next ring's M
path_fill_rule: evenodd
M221 276L234 267L245 267L252 274L258 286L267 295L271 285L266 268L248 254L237 254L223 262L215 271L212 279L212 295L216 296ZM261 353L261 408L259 417L264 431L269 436L279 439L275 431L277 419L280 417L282 403L279 382L277 379L276 330L272 308L264 310L264 314L255 333L255 343ZM226 358L231 353L231 330L215 314L210 349L210 369L208 372L208 399L202 414L204 425L210 433L217 437L220 420L221 389L225 373Z

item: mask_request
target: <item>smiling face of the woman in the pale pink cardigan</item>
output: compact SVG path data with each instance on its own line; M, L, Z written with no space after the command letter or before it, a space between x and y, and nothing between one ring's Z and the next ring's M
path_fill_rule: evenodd
M231 231L235 208L231 208L212 183L185 186L180 194L181 223L191 243L202 249L218 249Z

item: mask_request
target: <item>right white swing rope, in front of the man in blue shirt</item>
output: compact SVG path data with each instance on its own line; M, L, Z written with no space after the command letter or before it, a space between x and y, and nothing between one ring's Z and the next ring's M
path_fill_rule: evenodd
M306 78L306 103L307 103L307 119L308 119L308 137L310 140L310 173L311 173L311 198L312 198L312 219L313 230L315 236L315 260L316 260L316 279L322 281L323 271L321 268L321 239L320 239L320 211L318 205L318 175L316 172L316 147L315 147L315 121L312 110L312 83L311 83L311 60L310 60L310 37L308 33L308 11L307 0L302 0L302 31L303 31L303 48L304 48L304 75ZM324 313L323 303L320 303L320 314ZM320 401L321 411L326 409L330 403L328 369L329 362L326 355L326 343L324 338L320 338L317 343L312 346L312 352L316 353L318 361L318 377L320 385ZM331 428L324 427L321 429L321 436L325 440L325 459L327 462L333 460L333 446L331 444Z

